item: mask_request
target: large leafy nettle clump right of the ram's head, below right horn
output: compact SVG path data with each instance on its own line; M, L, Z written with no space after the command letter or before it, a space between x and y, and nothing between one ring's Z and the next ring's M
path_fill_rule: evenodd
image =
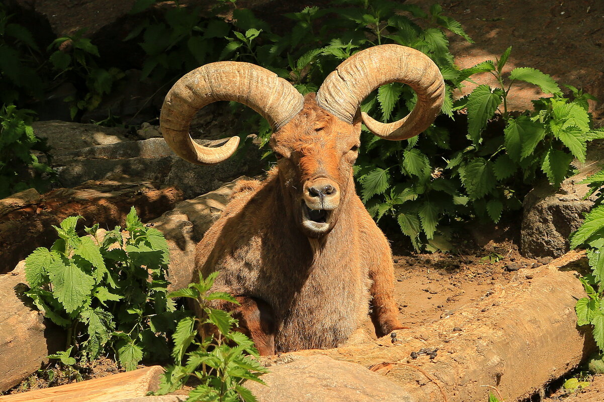
M448 246L440 222L463 217L498 222L504 211L519 209L525 193L539 181L559 187L571 174L574 158L585 162L586 143L604 137L604 131L591 126L587 99L592 96L568 86L573 96L567 98L556 81L532 68L516 68L504 76L510 51L495 62L443 70L456 86L480 72L493 74L500 83L498 88L479 85L452 105L452 110L467 112L466 140L453 140L434 126L401 143L366 139L358 168L362 199L378 220L396 218L416 249ZM533 101L533 111L512 117L507 95L518 81L553 96ZM503 130L498 130L489 121L502 105Z

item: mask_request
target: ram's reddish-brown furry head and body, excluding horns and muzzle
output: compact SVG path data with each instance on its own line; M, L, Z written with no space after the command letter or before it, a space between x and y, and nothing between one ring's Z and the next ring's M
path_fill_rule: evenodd
M358 328L370 301L377 334L402 328L390 246L353 183L351 148L360 131L360 121L339 121L314 94L306 96L303 110L271 137L283 155L278 167L265 181L240 183L198 245L196 269L219 271L212 290L245 301L216 306L243 318L263 354L336 347ZM321 236L300 223L305 183L314 177L330 180L339 196Z

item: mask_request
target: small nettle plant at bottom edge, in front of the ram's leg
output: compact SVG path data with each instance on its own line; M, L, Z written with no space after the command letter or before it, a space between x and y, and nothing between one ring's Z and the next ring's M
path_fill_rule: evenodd
M251 380L264 384L259 376L266 368L256 360L259 354L254 342L245 334L234 331L237 320L230 313L210 307L208 302L211 300L239 304L224 292L208 293L216 276L217 272L214 272L204 279L200 274L199 283L191 283L187 288L169 294L169 297L194 300L199 304L201 315L197 318L186 316L176 325L172 337L172 357L176 364L166 369L158 394L173 392L195 377L198 385L190 391L187 402L255 402L254 395L243 383ZM198 328L202 330L199 340L196 339ZM206 332L208 328L215 331Z

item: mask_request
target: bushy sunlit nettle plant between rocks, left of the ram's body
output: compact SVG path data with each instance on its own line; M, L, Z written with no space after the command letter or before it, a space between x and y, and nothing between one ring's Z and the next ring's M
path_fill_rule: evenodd
M65 351L51 357L73 365L108 352L128 370L143 357L165 359L175 307L167 297L163 234L143 225L134 208L126 233L116 227L101 235L96 224L78 236L80 218L63 220L54 227L59 239L53 247L25 259L26 295L67 331Z

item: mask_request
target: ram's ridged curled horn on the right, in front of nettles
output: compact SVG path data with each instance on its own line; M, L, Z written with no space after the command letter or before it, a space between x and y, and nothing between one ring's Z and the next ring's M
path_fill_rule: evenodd
M367 113L361 118L376 136L403 140L430 127L445 99L445 82L428 56L400 45L379 45L343 61L321 85L316 102L339 119L352 123L361 102L384 84L407 84L417 93L417 104L405 118L381 123Z

